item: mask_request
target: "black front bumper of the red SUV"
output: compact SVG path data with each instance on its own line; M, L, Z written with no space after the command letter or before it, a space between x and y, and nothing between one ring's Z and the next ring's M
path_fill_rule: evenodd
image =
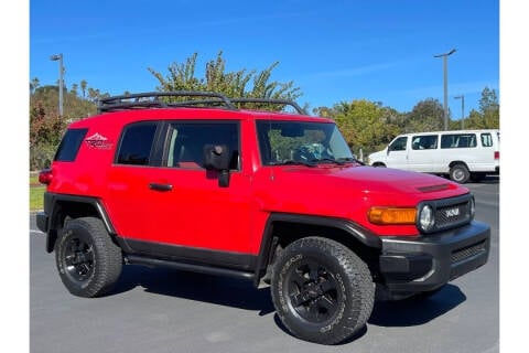
M380 272L397 296L434 290L487 263L490 227L481 222L435 235L382 238Z

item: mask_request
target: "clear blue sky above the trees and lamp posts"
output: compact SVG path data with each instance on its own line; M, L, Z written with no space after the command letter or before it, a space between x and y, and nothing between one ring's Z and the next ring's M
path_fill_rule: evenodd
M148 67L166 76L197 53L197 76L222 51L227 71L262 71L293 82L301 105L380 101L400 113L421 100L447 104L453 119L499 92L499 0L370 1L30 1L30 79L85 79L110 95L155 90Z

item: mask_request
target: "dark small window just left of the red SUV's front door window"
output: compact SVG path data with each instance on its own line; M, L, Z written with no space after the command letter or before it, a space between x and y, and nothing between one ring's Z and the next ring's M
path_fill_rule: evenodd
M139 122L125 128L116 162L118 164L149 165L156 122Z

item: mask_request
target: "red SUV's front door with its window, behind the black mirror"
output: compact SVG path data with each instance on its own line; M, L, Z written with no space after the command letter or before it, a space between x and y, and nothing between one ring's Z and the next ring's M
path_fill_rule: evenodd
M239 121L169 124L162 167L150 180L149 233L175 247L249 253L250 178L241 170ZM228 147L229 184L203 168L206 145Z

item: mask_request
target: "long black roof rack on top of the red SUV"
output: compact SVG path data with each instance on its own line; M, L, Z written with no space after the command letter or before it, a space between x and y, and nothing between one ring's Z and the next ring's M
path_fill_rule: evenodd
M183 98L204 97L206 99ZM112 96L100 98L98 103L98 111L115 111L134 108L168 108L168 107L190 107L190 106L223 106L229 110L237 110L235 104L276 104L292 106L299 114L306 114L298 104L287 99L268 99L268 98L228 98L219 93L214 92L195 92L195 90L175 90L175 92L150 92L122 96Z

